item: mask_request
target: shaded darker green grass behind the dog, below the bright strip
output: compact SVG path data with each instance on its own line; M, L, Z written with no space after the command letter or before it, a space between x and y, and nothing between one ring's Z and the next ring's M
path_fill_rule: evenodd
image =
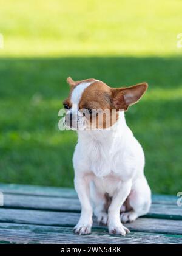
M0 59L0 181L73 185L76 134L57 128L71 75L110 86L149 83L126 119L144 147L153 192L176 194L181 189L181 69L180 57Z

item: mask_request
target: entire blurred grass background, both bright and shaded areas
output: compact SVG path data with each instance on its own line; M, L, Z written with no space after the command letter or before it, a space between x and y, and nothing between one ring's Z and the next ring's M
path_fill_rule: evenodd
M76 134L58 130L75 80L149 83L126 113L152 191L181 191L180 0L0 1L0 182L73 186Z

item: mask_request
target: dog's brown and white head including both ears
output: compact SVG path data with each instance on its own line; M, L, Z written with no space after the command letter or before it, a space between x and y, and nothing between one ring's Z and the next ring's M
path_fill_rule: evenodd
M127 111L147 89L147 83L112 88L94 78L73 81L69 77L67 83L70 93L63 103L66 109L65 123L73 130L110 128L118 119L118 111Z

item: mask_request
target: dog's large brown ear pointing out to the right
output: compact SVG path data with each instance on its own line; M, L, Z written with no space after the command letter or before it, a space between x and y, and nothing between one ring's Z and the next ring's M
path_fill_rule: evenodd
M147 87L147 83L139 83L138 85L126 88L113 88L113 108L124 109L124 111L126 111L130 105L133 105L140 100L144 92L146 92Z

